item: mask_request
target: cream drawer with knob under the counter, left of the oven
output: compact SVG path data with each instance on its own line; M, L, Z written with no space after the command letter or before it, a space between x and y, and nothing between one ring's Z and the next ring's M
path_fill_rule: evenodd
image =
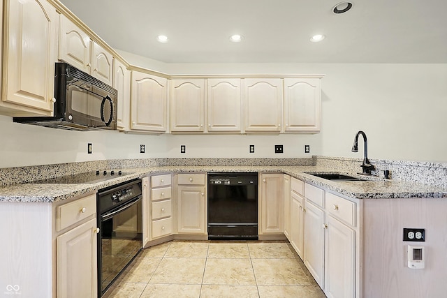
M59 232L92 214L96 214L96 195L88 195L85 198L58 206L56 214L56 230Z

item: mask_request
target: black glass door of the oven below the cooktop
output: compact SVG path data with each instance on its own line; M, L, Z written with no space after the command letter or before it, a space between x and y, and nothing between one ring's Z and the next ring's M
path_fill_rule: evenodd
M142 249L142 197L101 214L98 234L98 297Z

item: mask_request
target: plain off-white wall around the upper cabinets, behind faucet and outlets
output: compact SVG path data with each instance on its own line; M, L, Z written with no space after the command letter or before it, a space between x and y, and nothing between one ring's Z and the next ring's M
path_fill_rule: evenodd
M124 52L120 52L124 58ZM141 66L175 74L323 73L322 130L317 135L132 135L74 132L15 124L0 116L0 167L109 158L362 157L351 152L365 131L369 158L447 162L447 64L162 64ZM138 64L138 57L129 59ZM87 154L87 143L94 153ZM362 140L360 139L360 142ZM146 144L146 153L139 153ZM186 154L179 146L186 145ZM255 154L249 154L249 145ZM284 144L284 154L274 154ZM311 154L304 154L304 145Z

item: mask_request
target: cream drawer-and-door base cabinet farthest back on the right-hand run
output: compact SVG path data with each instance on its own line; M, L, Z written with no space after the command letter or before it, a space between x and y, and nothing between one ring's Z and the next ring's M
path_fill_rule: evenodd
M304 182L296 178L291 179L291 228L289 241L298 253L300 258L304 260L305 245L305 198L304 198Z

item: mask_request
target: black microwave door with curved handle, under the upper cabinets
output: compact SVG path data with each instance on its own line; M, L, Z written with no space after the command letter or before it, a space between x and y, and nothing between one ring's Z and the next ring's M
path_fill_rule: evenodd
M117 98L90 82L72 77L66 85L66 119L91 128L116 127Z

